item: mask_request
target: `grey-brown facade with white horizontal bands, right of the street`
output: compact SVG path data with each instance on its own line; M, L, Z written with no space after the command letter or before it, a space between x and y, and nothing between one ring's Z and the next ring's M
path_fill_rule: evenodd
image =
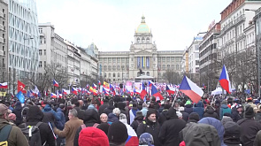
M220 34L220 24L211 24L210 29L203 36L203 41L199 44L199 74L200 82L206 86L207 91L214 90L219 81L218 64L218 36ZM217 67L219 65L219 67Z

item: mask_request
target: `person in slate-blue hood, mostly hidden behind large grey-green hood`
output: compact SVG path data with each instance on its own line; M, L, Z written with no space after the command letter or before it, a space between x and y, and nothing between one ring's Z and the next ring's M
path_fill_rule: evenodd
M226 146L226 144L224 143L224 140L223 140L225 129L224 129L222 123L219 121L219 119L206 117L206 118L200 119L198 121L198 123L208 124L208 125L215 127L219 134L219 140L221 142L221 146Z

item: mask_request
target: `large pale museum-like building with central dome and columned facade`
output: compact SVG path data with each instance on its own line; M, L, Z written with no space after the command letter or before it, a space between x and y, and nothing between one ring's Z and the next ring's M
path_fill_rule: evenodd
M98 73L111 82L134 81L142 75L163 81L162 74L170 69L181 71L183 50L157 50L152 41L150 27L142 16L141 24L134 31L134 42L129 51L99 51Z

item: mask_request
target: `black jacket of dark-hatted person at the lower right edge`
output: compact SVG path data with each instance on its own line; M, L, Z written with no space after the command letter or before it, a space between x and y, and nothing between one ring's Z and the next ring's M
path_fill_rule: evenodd
M241 141L243 146L253 146L256 134L261 130L261 124L254 119L240 119L237 124L241 127Z

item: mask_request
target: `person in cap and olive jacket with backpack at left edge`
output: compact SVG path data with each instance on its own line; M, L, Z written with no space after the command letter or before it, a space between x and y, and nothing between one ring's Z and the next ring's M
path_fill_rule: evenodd
M10 125L8 114L11 112L7 106L0 104L0 145L29 146L20 128Z

